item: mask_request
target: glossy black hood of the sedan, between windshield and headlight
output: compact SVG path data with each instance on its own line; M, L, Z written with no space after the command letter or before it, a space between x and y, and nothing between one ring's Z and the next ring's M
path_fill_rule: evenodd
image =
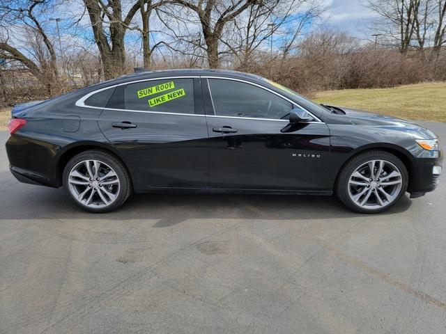
M339 108L339 107L338 107ZM394 116L381 115L379 113L371 113L351 108L340 107L346 114L346 117L355 125L375 126L385 129L394 129L396 131L410 132L415 137L420 138L438 138L436 134L426 127L417 125L410 120L403 120Z

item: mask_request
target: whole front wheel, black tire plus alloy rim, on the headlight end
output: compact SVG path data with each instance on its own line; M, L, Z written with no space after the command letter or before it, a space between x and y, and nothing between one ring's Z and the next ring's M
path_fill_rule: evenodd
M349 209L377 214L398 202L406 192L408 180L406 166L394 154L370 150L346 163L337 178L335 191Z

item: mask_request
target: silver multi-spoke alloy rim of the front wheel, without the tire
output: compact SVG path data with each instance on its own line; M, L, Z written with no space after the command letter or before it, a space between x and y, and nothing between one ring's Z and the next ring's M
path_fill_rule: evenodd
M403 185L401 171L390 161L367 161L351 174L348 195L363 209L380 209L398 198Z

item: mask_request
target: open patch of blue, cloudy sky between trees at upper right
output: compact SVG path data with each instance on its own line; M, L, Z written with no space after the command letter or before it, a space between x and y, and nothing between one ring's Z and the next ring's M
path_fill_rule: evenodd
M330 0L327 2L330 3ZM373 17L373 13L364 6L367 0L331 0L331 3L324 15L327 24L358 38L369 38L363 20Z

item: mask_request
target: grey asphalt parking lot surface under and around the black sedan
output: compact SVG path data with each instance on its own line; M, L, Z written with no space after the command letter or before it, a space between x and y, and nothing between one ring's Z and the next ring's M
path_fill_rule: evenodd
M446 138L446 123L420 124ZM88 214L17 182L7 138L0 333L446 332L445 177L378 215L334 197L190 194Z

